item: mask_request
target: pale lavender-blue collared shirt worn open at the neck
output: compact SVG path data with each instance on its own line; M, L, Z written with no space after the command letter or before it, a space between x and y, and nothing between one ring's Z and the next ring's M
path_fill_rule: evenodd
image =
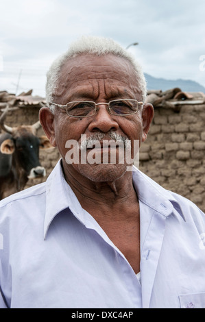
M60 162L0 202L0 308L205 308L205 215L134 168L141 282Z

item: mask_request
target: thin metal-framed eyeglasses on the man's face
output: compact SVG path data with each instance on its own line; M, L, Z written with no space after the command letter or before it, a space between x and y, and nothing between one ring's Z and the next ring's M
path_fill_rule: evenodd
M93 101L73 101L66 105L49 103L66 110L67 114L72 117L89 117L95 115L98 105L108 106L108 112L111 115L127 116L136 114L138 106L142 106L143 102L138 102L136 99L117 99L109 101L109 103L95 103Z

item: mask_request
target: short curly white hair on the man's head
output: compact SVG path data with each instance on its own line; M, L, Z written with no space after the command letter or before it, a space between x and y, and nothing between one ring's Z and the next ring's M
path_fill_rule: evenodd
M53 94L56 88L58 88L58 79L60 77L60 71L62 66L70 58L74 58L80 54L93 54L93 55L106 55L112 53L117 57L124 58L130 62L136 74L136 81L138 82L138 90L141 93L141 99L145 101L147 95L147 86L145 77L141 65L136 62L134 57L128 53L121 45L110 38L102 38L97 36L82 36L80 40L76 40L71 44L69 50L60 55L53 64L51 64L49 71L47 72L47 84L46 84L46 100L48 106L53 102ZM54 102L53 102L54 103ZM55 107L50 106L51 112L54 112Z

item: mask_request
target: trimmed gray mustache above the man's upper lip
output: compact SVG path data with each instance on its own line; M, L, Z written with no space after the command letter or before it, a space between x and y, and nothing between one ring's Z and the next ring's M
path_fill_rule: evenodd
M92 134L86 140L83 140L80 143L80 149L88 149L92 148L93 145L99 143L99 141L104 140L104 138L110 138L111 140L114 140L117 143L121 143L124 145L124 147L130 147L130 140L127 136L122 136L121 134L117 134L114 131L110 131L108 133L101 133L97 132L95 134Z

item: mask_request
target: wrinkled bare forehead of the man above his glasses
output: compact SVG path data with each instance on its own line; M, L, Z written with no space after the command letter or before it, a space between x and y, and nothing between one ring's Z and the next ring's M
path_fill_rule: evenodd
M138 92L138 82L132 64L113 54L81 54L69 58L61 70L55 97L60 97L66 90L75 90L84 85L95 86L103 80L105 85L122 86Z

